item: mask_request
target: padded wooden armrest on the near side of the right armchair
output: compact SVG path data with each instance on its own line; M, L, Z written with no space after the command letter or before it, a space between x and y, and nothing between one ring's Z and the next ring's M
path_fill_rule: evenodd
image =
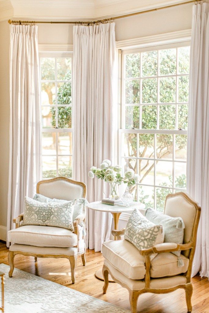
M163 243L156 244L153 248L141 249L139 250L139 252L141 255L150 255L153 253L174 252L179 250L188 250L191 248L192 248L191 242L188 242L187 244Z

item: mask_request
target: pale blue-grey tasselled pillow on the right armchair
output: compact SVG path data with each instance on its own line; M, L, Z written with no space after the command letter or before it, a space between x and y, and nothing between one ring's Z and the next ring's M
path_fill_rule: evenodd
M148 208L146 218L152 223L163 226L165 232L164 242L183 244L185 225L181 217L172 217ZM174 251L172 253L179 257L178 266L183 266L183 261L180 259L181 251Z

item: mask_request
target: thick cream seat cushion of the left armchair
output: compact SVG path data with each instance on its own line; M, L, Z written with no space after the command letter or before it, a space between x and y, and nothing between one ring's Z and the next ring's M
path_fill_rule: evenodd
M79 239L82 227L79 226ZM52 226L25 225L8 232L8 240L16 244L38 247L74 247L77 235L71 230Z

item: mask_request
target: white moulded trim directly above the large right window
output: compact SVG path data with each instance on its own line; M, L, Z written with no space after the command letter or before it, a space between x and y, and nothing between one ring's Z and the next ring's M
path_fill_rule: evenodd
M191 29L180 30L153 36L117 41L118 49L143 48L152 45L171 44L191 40Z

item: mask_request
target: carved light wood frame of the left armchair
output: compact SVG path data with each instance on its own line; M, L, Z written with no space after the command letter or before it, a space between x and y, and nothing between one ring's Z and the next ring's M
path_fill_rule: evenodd
M49 183L49 182L55 182L55 181L59 181L59 180L64 180L66 182L69 182L71 184L75 184L75 185L80 185L83 188L83 193L81 198L86 198L86 184L84 184L83 182L76 182L75 180L66 178L66 177L55 177L52 179L46 179L46 180L42 180L40 182L37 183L36 185L36 192L39 193L39 186L41 184L44 183ZM20 227L20 222L23 220L23 214L21 213L17 218L13 218L13 223L15 223L15 228L19 228ZM84 214L80 214L76 217L75 221L73 222L73 226L74 226L74 231L73 233L75 233L77 235L77 245L75 246L77 248L77 250L79 251L79 246L78 246L78 224L83 221L84 225L86 223L86 209ZM83 236L84 239L85 236ZM44 247L43 247L44 248ZM75 270L76 270L76 263L77 263L77 255L79 255L79 252L77 253L77 255L65 255L65 254L35 254L35 253L30 253L30 252L23 252L23 251L9 251L8 252L8 262L9 262L9 266L10 266L10 270L9 270L9 277L12 277L13 274L13 270L14 270L14 256L16 254L22 254L25 256L34 256L35 258L35 262L37 262L37 258L66 258L69 259L70 264L71 264L71 280L72 280L72 284L75 283ZM83 266L86 265L86 247L85 247L85 251L83 254L81 254L81 258L82 258L82 262L83 262Z

